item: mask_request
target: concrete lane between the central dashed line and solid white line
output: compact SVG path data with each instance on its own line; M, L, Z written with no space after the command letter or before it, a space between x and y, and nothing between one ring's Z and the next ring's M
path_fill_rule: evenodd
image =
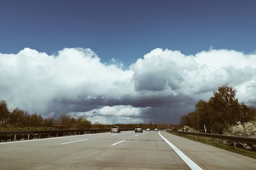
M131 132L109 150L68 169L190 169L158 132Z

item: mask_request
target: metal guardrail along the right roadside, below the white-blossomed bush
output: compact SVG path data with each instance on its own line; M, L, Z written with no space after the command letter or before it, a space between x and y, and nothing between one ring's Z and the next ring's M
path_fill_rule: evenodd
M213 138L213 139L222 139L226 141L231 141L235 143L248 143L256 145L256 138L248 138L248 137L241 137L241 136L228 136L223 134L205 134L205 133L199 133L199 132L182 132L182 131L169 131L171 133L176 133L179 135L194 135L194 136L202 136L207 138Z

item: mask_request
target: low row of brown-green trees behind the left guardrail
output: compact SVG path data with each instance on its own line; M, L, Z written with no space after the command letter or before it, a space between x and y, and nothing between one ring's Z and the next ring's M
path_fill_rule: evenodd
M58 119L43 118L38 113L30 115L19 108L10 111L6 101L0 101L0 127L51 127L56 124L66 125L68 129L90 129L92 127L92 123L84 117L72 118L61 115Z

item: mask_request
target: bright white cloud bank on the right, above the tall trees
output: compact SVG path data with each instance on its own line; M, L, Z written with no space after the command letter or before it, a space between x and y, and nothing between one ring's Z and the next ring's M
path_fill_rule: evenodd
M179 51L156 48L130 68L134 71L134 85L139 92L147 90L192 97L205 93L209 96L208 92L221 85L239 88L255 82L256 55L209 50L186 56Z

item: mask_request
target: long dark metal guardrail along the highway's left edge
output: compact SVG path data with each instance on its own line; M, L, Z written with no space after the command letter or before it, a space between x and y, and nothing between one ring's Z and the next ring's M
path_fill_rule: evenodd
M121 129L121 131L130 131L131 129ZM95 134L110 132L110 129L62 129L62 130L44 130L44 131L0 131L1 141L16 141L25 139L52 138L60 136Z

